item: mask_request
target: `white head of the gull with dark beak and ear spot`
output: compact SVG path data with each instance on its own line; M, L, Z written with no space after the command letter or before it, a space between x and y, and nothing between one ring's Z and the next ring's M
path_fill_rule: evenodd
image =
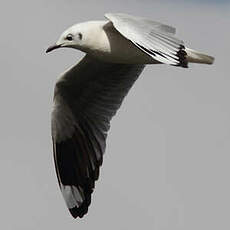
M79 49L86 52L90 44L89 41L92 40L91 32L95 30L93 24L93 22L83 22L71 26L62 33L55 45L50 46L46 50L46 53L62 47Z

